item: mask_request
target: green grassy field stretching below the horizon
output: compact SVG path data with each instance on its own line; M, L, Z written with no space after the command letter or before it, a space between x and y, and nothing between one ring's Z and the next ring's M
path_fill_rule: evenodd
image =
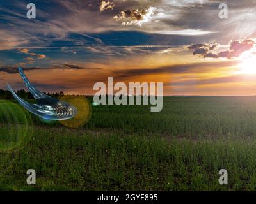
M92 101L92 99L90 99ZM255 191L256 97L165 97L92 106L81 128L47 124L0 102L0 189ZM228 186L218 182L228 170ZM36 170L36 185L26 171Z

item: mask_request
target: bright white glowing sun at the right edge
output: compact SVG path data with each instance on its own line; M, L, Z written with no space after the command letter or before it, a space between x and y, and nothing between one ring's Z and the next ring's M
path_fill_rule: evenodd
M240 56L241 63L239 68L241 69L239 73L246 75L256 75L256 55L254 52L244 52Z

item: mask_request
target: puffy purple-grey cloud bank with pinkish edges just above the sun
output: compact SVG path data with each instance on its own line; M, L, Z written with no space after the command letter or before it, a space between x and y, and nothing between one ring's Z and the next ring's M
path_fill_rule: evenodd
M241 54L255 47L256 42L253 39L230 41L228 50L218 53L211 52L218 47L218 44L193 44L189 45L189 50L194 50L193 55L202 55L204 58L227 58L233 59L240 57Z

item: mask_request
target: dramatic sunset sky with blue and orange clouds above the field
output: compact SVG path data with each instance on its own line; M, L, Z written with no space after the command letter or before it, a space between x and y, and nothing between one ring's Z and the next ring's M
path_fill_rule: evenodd
M44 92L94 94L114 77L163 82L164 95L254 96L255 11L254 0L0 0L0 89L24 88L22 66Z

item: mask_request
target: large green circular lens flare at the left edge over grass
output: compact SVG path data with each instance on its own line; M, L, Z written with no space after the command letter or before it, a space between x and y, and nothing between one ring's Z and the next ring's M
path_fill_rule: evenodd
M17 104L0 102L0 171L8 170L18 152L31 140L34 133L31 115Z

